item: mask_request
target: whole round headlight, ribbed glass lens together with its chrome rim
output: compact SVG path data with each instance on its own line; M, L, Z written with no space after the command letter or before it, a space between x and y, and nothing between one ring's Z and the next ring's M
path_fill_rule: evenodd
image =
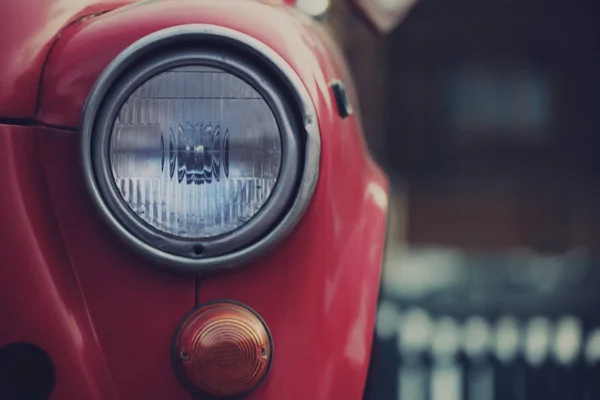
M132 45L83 116L86 180L128 243L186 271L273 246L318 174L314 108L272 50L238 32L185 26Z

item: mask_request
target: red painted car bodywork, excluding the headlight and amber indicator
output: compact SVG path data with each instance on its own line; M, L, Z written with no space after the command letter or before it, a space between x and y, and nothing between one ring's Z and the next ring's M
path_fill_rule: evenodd
M47 391L32 376L16 398L189 399L171 343L191 310L217 299L256 310L273 337L269 375L249 398L362 398L388 187L358 113L340 115L333 81L357 99L323 28L279 1L5 1L0 15L0 348L31 343L53 365ZM120 240L81 162L81 116L103 70L139 39L189 24L241 32L284 59L321 140L316 188L291 234L211 274L157 268Z

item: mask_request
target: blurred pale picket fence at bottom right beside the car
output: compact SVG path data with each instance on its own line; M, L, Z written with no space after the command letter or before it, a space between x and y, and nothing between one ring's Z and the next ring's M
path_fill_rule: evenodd
M376 339L372 399L600 399L600 330L577 318L399 317L399 333Z

